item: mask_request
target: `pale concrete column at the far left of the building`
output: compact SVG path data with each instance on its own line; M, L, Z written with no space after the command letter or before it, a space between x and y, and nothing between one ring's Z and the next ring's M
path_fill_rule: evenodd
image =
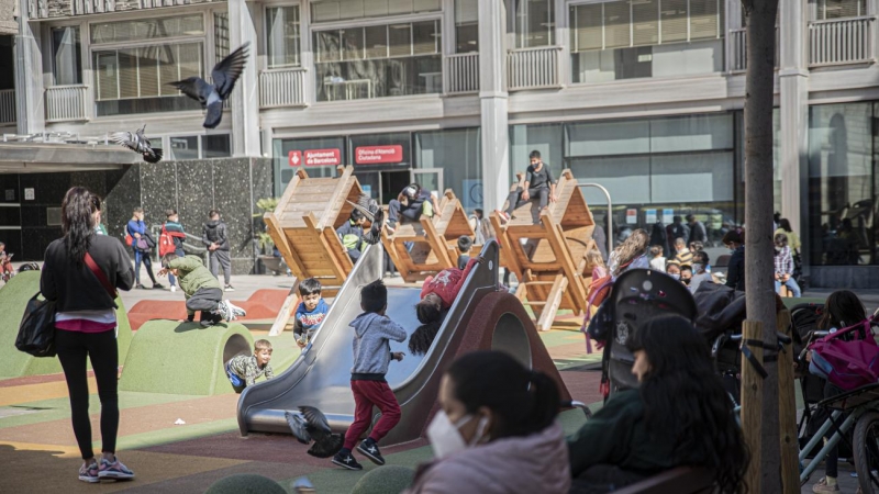
M15 112L19 134L37 134L46 127L40 27L31 26L29 14L27 0L20 0L19 34L15 35Z

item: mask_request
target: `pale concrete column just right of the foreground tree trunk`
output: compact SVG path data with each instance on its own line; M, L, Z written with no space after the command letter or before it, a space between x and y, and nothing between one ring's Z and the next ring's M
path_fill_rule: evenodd
M806 5L780 0L779 85L781 119L781 215L809 245L806 195L809 180L809 63Z

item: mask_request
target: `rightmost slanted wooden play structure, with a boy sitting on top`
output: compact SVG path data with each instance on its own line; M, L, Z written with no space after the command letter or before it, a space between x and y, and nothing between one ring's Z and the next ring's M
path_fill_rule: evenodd
M524 176L519 179L511 191ZM536 201L520 206L503 225L497 212L489 216L501 245L501 266L519 279L516 296L531 306L541 330L549 329L559 308L586 311L593 268L586 254L597 248L592 213L570 170L561 172L556 194L558 201L543 211Z

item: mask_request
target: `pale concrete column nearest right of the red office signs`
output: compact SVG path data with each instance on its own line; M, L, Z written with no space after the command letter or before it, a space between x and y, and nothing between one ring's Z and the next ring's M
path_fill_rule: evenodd
M501 207L510 192L507 117L507 12L501 0L479 1L479 101L482 133L482 207Z

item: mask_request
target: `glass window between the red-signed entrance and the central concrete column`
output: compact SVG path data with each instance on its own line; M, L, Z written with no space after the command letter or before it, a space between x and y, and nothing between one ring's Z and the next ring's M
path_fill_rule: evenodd
M442 168L443 187L452 189L468 212L482 207L479 146L478 127L416 132L415 168Z

